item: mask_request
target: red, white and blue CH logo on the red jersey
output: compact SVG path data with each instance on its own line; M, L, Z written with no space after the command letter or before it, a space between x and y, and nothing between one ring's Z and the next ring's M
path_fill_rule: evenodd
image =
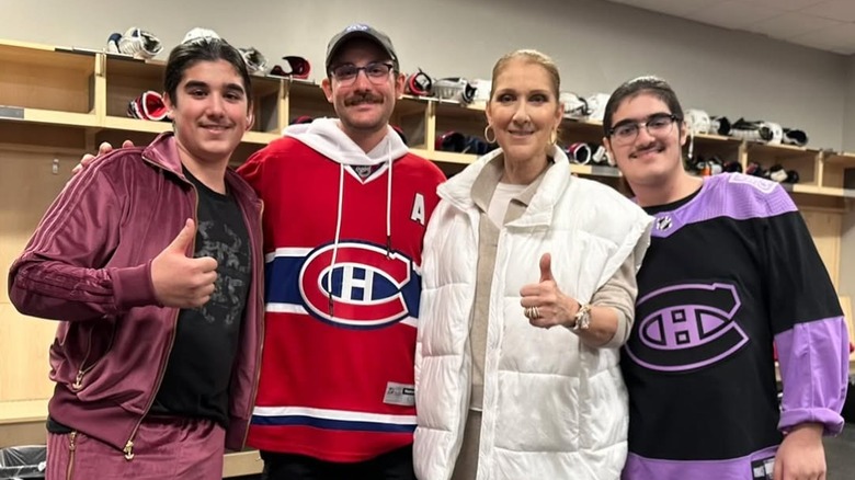
M311 316L357 329L380 328L414 317L419 283L410 259L400 252L387 256L384 247L360 242L342 242L338 248L327 244L311 251L298 278L300 296Z

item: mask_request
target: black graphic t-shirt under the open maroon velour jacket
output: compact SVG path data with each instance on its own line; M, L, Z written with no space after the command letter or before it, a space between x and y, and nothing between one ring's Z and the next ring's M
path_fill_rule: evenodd
M251 282L250 244L240 207L184 174L198 192L195 256L217 261L210 300L182 309L175 341L151 411L212 419L226 426L232 364Z

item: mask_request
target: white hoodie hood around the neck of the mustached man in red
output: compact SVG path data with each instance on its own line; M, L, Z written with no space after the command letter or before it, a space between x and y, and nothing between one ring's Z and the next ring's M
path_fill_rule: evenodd
M379 165L397 160L409 152L401 137L390 126L386 126L386 138L369 152L365 152L344 130L338 118L317 118L309 124L296 124L285 128L283 135L345 165Z

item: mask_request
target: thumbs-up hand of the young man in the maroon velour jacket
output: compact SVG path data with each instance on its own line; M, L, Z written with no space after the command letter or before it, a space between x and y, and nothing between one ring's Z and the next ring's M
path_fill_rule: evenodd
M195 238L196 226L187 218L178 237L151 262L155 297L164 307L201 307L214 294L217 261L210 256L187 258Z

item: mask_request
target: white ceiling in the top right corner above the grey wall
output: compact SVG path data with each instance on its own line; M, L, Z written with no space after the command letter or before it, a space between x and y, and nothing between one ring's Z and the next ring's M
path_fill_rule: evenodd
M855 0L608 1L836 54L855 54Z

